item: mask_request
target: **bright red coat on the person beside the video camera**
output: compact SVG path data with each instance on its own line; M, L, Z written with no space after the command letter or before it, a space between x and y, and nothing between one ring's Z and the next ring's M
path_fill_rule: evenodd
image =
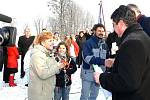
M7 67L8 68L18 68L18 61L19 52L16 46L7 47L7 54L8 54L8 61Z

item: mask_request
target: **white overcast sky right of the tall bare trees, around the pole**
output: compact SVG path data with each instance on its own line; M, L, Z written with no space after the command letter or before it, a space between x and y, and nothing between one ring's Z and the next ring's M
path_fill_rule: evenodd
M95 17L96 23L98 22L98 14L99 14L99 2L100 0L75 0L82 7L88 9ZM112 21L110 19L113 11L118 8L120 5L127 5L129 3L134 3L139 6L141 12L146 16L150 16L150 6L149 0L101 0L104 18L106 23L106 29L108 31L112 31Z

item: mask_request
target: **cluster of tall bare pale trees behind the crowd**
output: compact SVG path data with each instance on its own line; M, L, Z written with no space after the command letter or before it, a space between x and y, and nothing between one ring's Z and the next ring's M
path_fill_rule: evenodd
M60 33L76 33L79 29L91 27L93 24L92 15L82 10L73 0L50 0L48 7L57 22L55 29Z

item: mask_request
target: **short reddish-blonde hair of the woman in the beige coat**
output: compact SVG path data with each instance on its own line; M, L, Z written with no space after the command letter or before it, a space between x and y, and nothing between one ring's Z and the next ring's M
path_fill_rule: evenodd
M47 39L53 39L53 33L52 32L42 32L39 35L37 35L35 44L41 44L41 42L47 40Z

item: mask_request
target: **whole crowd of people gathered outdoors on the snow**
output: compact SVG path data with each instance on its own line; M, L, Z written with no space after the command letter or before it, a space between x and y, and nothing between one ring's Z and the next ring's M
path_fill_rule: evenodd
M121 5L111 15L114 32L95 24L78 35L42 31L31 36L26 27L17 45L1 47L3 81L10 87L18 72L27 78L28 100L69 100L71 75L81 68L80 100L96 100L100 86L112 100L150 100L150 18L135 4ZM98 71L94 66L98 66Z

